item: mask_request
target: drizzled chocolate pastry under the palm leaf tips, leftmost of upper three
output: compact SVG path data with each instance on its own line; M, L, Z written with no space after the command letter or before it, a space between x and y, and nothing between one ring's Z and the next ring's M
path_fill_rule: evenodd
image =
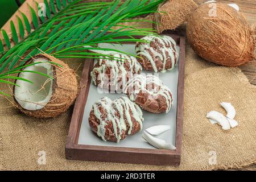
M99 85L100 88L121 93L129 77L135 73L141 73L142 67L133 56L121 53L109 55L113 56L113 59L106 59L106 57L98 59L91 76L94 84Z

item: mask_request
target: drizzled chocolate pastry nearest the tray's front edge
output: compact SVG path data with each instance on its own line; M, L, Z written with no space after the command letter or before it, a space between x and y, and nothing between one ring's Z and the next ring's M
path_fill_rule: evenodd
M112 101L108 97L97 101L90 111L89 125L102 140L119 142L126 135L142 130L142 111L127 97Z

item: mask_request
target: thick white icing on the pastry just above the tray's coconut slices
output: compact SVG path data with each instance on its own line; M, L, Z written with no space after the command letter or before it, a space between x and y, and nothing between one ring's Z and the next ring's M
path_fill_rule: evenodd
M158 85L159 89L148 90L146 89L146 85L155 85L155 86ZM132 89L132 90L128 90L128 89ZM168 113L171 110L172 101L173 101L171 90L167 86L165 86L158 77L154 75L147 75L146 77L142 75L134 76L133 78L131 78L131 80L129 80L129 82L127 82L124 92L131 93L129 96L131 101L136 100L136 95L139 92L142 92L142 93L147 92L150 94L150 97L153 97L153 98L154 97L157 98L159 97L159 95L163 96L164 98L166 98L166 105L167 105L166 113Z

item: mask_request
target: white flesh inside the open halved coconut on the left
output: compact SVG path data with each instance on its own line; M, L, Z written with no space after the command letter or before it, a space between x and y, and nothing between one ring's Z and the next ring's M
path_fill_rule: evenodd
M53 76L52 65L44 58L33 60L33 63L38 63L24 68L24 71L36 71L44 73L48 76ZM17 80L14 96L18 104L26 110L42 109L51 100L53 80L46 76L36 73L22 72L19 77L32 81L33 83Z

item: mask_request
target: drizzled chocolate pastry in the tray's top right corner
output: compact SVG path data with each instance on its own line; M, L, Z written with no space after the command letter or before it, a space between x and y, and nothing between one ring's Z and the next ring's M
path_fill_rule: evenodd
M137 58L143 69L154 72L166 72L177 64L176 42L170 36L148 35L142 38L148 43L138 42L135 47Z

